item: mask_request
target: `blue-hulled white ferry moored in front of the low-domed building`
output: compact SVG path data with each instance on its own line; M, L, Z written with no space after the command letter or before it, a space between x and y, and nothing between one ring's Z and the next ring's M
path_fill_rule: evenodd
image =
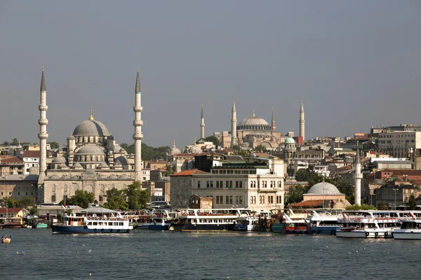
M312 235L335 235L340 228L338 218L342 218L344 209L309 209L309 233Z

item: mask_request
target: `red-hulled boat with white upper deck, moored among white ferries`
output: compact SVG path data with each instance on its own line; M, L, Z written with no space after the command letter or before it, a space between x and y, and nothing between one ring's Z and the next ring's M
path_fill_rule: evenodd
M288 234L307 234L309 232L309 221L306 210L287 209L283 213L274 214L275 222L272 224L272 232Z

